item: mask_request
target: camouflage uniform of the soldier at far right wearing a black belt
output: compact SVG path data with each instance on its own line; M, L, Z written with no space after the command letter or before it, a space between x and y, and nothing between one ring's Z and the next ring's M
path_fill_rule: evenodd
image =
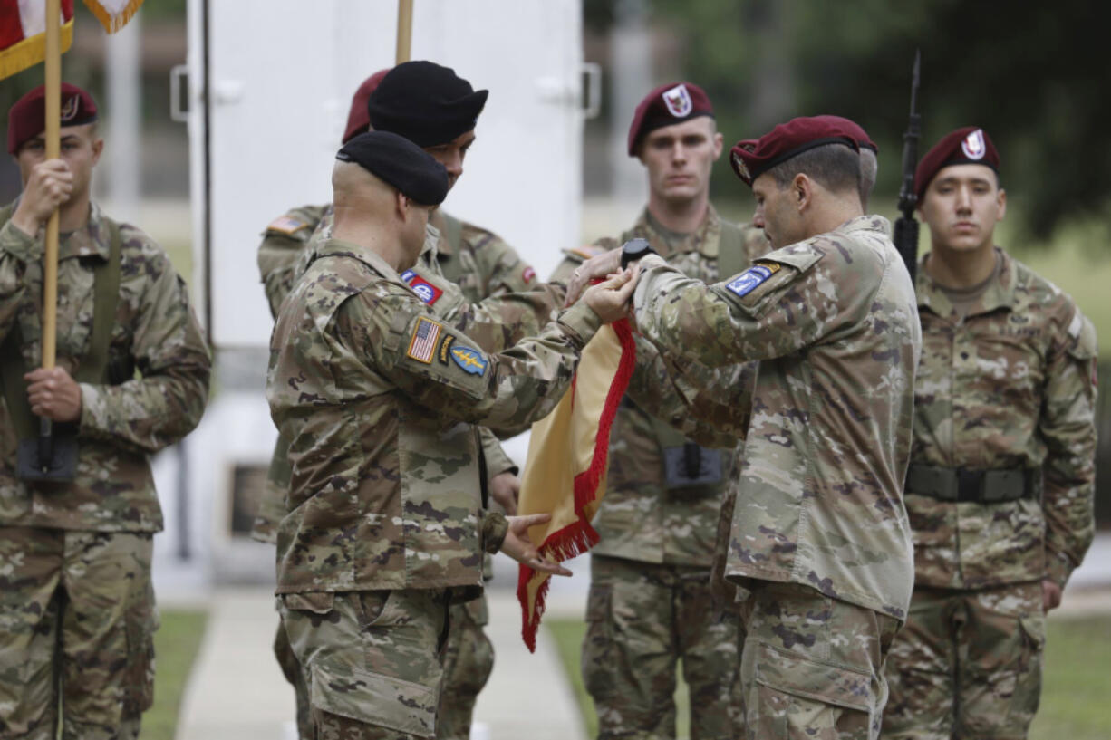
M915 581L888 664L885 738L1024 738L1041 690L1041 581L1063 588L1092 541L1094 328L997 253L964 316L918 271ZM992 478L982 494L944 500L928 476L951 469Z

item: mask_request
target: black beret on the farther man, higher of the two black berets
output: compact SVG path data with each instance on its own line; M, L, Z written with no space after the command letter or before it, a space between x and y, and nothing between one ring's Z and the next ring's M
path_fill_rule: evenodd
M478 90L448 67L430 61L398 64L367 100L370 126L418 147L448 143L474 129L488 90Z

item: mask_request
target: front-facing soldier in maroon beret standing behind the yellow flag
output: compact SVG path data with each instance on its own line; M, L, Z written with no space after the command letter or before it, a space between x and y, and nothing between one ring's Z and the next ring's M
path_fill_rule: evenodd
M644 166L643 212L615 239L569 250L552 280L574 282L585 258L605 259L634 238L709 281L740 272L768 250L759 229L722 219L710 202L722 137L702 88L670 82L644 96L629 126L628 152ZM607 272L620 267L617 252L610 254L601 268ZM682 660L690 736L731 737L739 701L727 679L738 669L739 620L731 604L715 607L710 584L729 456L671 430L657 409L627 398L610 434L605 498L592 522L601 541L591 551L583 677L600 738L673 738ZM672 531L677 522L681 534ZM637 620L625 620L628 613Z

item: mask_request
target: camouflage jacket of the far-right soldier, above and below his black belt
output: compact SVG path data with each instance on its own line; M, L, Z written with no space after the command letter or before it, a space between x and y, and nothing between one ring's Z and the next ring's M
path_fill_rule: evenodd
M923 586L1042 578L1064 586L1092 541L1095 329L1060 289L999 254L998 277L963 320L924 267L918 270L922 361L911 460L1041 468L1041 500L947 502L908 486L915 582Z

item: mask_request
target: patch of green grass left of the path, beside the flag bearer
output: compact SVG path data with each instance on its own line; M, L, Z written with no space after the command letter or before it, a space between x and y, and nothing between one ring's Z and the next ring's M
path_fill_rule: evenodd
M154 706L142 717L142 740L173 740L207 619L203 611L162 611L162 626L154 633Z

